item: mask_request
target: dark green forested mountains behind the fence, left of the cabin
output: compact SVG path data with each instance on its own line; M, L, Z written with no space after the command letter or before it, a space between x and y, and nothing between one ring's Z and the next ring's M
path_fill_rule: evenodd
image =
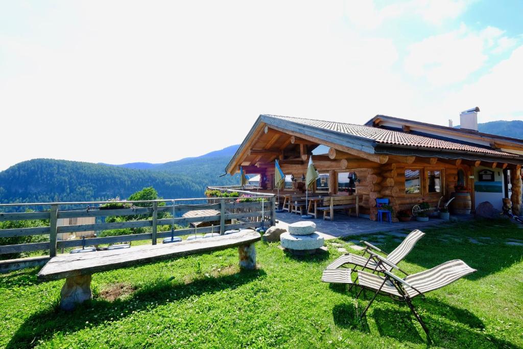
M0 202L92 201L126 198L154 187L163 198L201 197L207 185L230 185L218 177L229 158L186 161L172 171L135 170L77 161L35 159L0 172Z

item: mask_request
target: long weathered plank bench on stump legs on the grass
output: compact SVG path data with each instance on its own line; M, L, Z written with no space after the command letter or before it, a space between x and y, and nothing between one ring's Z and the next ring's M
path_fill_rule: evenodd
M238 233L219 237L181 241L170 244L142 245L130 249L65 254L52 257L38 273L38 280L65 278L60 292L60 308L72 310L78 303L93 297L91 279L94 273L124 268L137 264L161 261L167 258L208 253L238 247L240 268L256 267L254 243L260 234L244 229Z

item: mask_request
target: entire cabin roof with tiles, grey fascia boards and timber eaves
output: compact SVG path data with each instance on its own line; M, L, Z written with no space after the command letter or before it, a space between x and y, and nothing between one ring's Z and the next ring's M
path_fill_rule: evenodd
M380 125L380 120L383 118L395 120L391 123L395 123L397 127ZM403 121L405 123L402 123ZM292 137L324 144L327 147L364 158L365 154L387 154L436 156L442 159L488 162L503 161L512 164L523 162L523 155L521 155L523 140L495 135L491 137L491 135L476 131L460 131L452 128L448 129L454 133L437 132L430 127L438 126L430 124L425 124L426 127L423 129L426 131L424 132L409 131L407 121L411 122L410 120L376 116L367 122L367 125L356 125L346 122L261 114L225 167L225 171L234 174L239 171L242 163L256 164L264 150L271 153L265 157L265 161L271 162L278 156L275 150L281 151L294 146L294 143L290 144ZM407 126L406 129L403 129L402 125ZM272 133L269 129L273 130ZM459 135L469 133L473 133L474 136L459 137ZM279 137L281 134L287 134L288 137ZM507 152L506 149L516 151ZM257 153L251 153L252 150Z

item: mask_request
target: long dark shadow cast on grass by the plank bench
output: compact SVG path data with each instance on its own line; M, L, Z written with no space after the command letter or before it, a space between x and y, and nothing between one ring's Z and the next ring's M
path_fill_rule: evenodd
M185 299L194 295L209 294L224 289L235 289L241 285L263 278L266 273L263 269L241 271L236 274L197 279L189 284L173 284L170 279L160 279L141 287L126 299L117 299L110 302L95 298L79 305L72 312L65 312L57 308L48 308L33 314L20 325L10 339L6 348L26 348L38 344L39 340L46 340L56 332L69 332L85 328L86 321L92 325L117 320L130 315L127 312L129 305L132 310L144 311L151 307ZM123 316L120 316L123 314Z

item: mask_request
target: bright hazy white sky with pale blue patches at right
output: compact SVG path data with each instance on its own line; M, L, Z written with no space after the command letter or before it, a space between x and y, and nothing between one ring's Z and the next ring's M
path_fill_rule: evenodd
M0 170L166 162L259 114L523 119L523 2L0 0Z

